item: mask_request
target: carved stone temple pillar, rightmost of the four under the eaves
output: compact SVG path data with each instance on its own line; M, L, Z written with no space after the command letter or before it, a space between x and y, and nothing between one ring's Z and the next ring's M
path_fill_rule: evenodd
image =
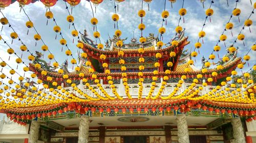
M246 143L244 136L244 129L240 118L231 119L231 124L233 127L233 137L236 143Z

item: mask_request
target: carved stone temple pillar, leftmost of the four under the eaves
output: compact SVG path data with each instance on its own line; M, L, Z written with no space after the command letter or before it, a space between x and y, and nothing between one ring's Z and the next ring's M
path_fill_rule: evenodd
M40 123L37 121L32 121L29 130L29 143L36 143L38 140Z

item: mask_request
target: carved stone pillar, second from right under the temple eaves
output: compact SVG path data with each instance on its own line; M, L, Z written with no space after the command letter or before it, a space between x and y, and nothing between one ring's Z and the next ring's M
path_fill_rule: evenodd
M177 115L178 141L179 143L189 143L188 128L186 116L181 113Z

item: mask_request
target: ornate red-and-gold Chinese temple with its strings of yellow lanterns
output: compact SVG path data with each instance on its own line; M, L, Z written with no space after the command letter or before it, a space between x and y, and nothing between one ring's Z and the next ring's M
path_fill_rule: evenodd
M120 3L126 3L123 1L115 0L115 10ZM151 1L142 1L142 6L143 2L148 5L148 11ZM54 17L50 10L56 2L0 0L0 7L19 3L20 11L26 13L26 5L42 3L47 8L47 23L56 23L58 17ZM172 6L176 4L176 1L170 0L164 4L169 2ZM204 5L204 1L201 2ZM59 43L63 54L59 54L71 57L71 60L65 60L60 65L46 44L41 45L41 49L37 47L35 52L25 44L20 46L22 52L29 52L28 58L11 47L5 49L11 58L16 56L16 61L3 60L4 56L0 55L0 112L6 115L0 125L0 142L256 142L256 66L250 65L248 71L243 70L239 74L240 69L247 64L249 66L248 53L255 52L255 44L244 57L238 56L240 48L231 44L226 47L222 58L216 58L220 50L217 44L209 52L209 59L203 56L199 68L195 66L195 58L200 54L197 51L203 44L205 32L203 29L199 31L199 40L191 43L186 34L189 30L178 25L173 37L169 38L168 43L164 43L162 39L167 30L164 24L169 16L165 5L161 14L163 23L157 34L145 36L143 33L146 10L142 8L138 10L141 37L122 39L122 31L118 28L118 24L122 23L118 23L120 15L116 12L112 15L116 28L114 35L108 35L108 40L102 44L97 30L100 19L94 15L89 19L94 28L93 33L87 30L84 33L78 32L72 9L74 11L74 6L80 1L67 0L61 3L71 6L66 8L69 11L67 21L70 28L74 26L72 36L77 41L73 39L73 43L78 54L72 54L73 47L68 46L57 23L53 30L61 36ZM99 7L97 5L104 5L102 0L86 3L90 3L91 7L94 4L95 11ZM209 1L210 6L215 3L218 2ZM93 7L92 13L95 12ZM255 8L256 3L251 6L251 9ZM214 11L211 7L205 9L206 21ZM234 9L232 14L238 16L241 13L238 10L240 11L238 8ZM179 20L182 21L186 14L183 5L179 14ZM7 31L8 17L3 14L0 21L3 31ZM246 21L244 26L248 26ZM34 26L31 20L26 25L29 29ZM14 24L9 23L9 27L12 26ZM227 24L225 28L230 29L230 25ZM225 41L223 35L219 42ZM57 35L56 37L59 38ZM244 40L241 32L237 37L237 40ZM10 38L22 40L15 31ZM42 38L38 33L34 35L36 44ZM8 43L6 36L0 39L4 44ZM45 55L47 51L50 53L48 56ZM12 68L11 63L24 64L24 68L18 71L18 66ZM8 76L8 70L5 72L5 69L10 68L11 76ZM12 76L15 74L18 75L17 80ZM28 76L30 77L26 78Z

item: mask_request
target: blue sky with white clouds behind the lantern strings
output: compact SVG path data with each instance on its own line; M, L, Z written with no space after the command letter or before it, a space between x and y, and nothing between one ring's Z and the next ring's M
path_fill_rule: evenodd
M254 3L255 1L252 1ZM188 1L185 0L184 8L187 10L187 14L185 15L185 23L181 20L180 25L183 28L186 28L185 35L188 36L188 40L190 44L185 47L185 49L194 49L194 44L198 40L198 33L201 31L204 19L206 17L205 10L209 8L210 1L206 1L204 3L205 8L203 9L202 4L200 1ZM211 53L213 47L219 40L221 33L225 28L225 24L229 19L232 10L236 5L235 1L229 0L229 7L226 4L226 0L215 1L212 4L212 9L214 10L214 15L211 16L211 22L209 19L206 21L206 25L204 31L206 36L204 38L204 44L200 48L200 54L197 56L195 65L197 67L201 67L201 57L204 55L208 58L208 55ZM140 23L140 17L138 16L137 12L141 9L141 1L135 0L126 0L123 3L119 4L119 29L122 31L121 38L127 37L126 43L130 41L133 37L133 31L135 32L135 37L139 39L140 31L138 30L138 24ZM170 2L166 1L166 10L169 12L169 17L167 18L167 25L166 33L163 35L163 42L168 43L170 39L175 35L175 27L178 25L179 14L178 11L182 7L182 1L177 1L173 4L173 8L170 7ZM238 22L238 17L233 16L231 22L234 24L232 33L233 37L231 36L230 31L226 31L225 34L227 35L226 45L230 45L236 39L238 33L240 32L245 19L248 18L251 11L253 10L253 6L251 6L250 1L239 1L237 8L241 9L240 14L240 23ZM50 51L55 55L55 59L58 63L63 63L67 58L71 59L71 57L67 57L65 51L67 50L66 47L63 47L63 52L61 52L61 45L59 44L60 36L57 36L57 40L55 40L56 33L53 31L53 26L55 25L53 20L50 19L47 23L47 18L45 17L46 8L41 2L36 2L34 4L30 4L24 7L26 13L30 17L31 21L34 23L38 33L41 35L42 39L45 43L49 46ZM93 9L95 7L93 6ZM143 36L148 36L149 33L154 33L155 36L158 34L158 28L161 27L162 18L161 13L164 10L164 1L163 0L154 0L150 4L150 11L147 10L147 4L144 3L143 9L146 11L146 16L143 17L143 23L146 25L145 30L143 31ZM35 40L33 39L33 35L35 31L30 29L29 34L27 35L27 27L25 26L26 21L28 18L24 14L24 12L19 12L18 3L15 2L14 4L10 5L9 7L2 10L4 15L9 19L14 30L20 36L22 41L27 45L32 53L35 51L41 51L42 42L37 42L37 46L35 46ZM69 10L71 8L69 7ZM54 7L51 7L51 11L54 13L54 17L56 22L61 27L61 32L63 37L67 40L69 48L72 50L73 55L77 58L77 38L75 38L75 42L72 43L73 37L71 35L71 31L74 30L73 27L69 29L69 22L67 22L66 17L69 15L66 9L65 2L58 1ZM108 39L108 34L112 36L115 32L114 29L114 22L111 19L112 14L114 13L114 2L105 0L99 6L97 6L95 17L98 19L98 31L100 32L100 39L101 43ZM2 15L1 15L2 16ZM0 16L0 17L1 17ZM87 29L89 37L95 41L95 38L92 37L93 35L93 25L90 23L92 18L92 10L90 7L89 2L81 0L81 3L73 8L73 16L75 17L75 26L77 30L83 31L84 28ZM244 56L247 51L251 48L251 46L255 43L255 34L256 28L254 26L256 15L253 14L250 19L253 21L251 28L251 33L249 32L249 28L245 27L242 31L242 34L245 35L245 46L243 46L242 41L238 41L235 46L239 47L239 56ZM9 45L16 51L18 55L21 55L22 52L19 50L19 46L21 45L20 41L15 39L13 44L11 44L11 28L7 25L4 26L3 31L0 32L1 36L4 40L7 41ZM201 41L202 42L202 41ZM222 57L226 53L226 48L224 43L221 42L219 44L221 46L221 51L219 51L220 57ZM0 41L0 52L5 53L1 54L1 58L8 62L9 55L6 52L7 46L4 44L3 41ZM49 52L45 52L45 59L47 59L47 55ZM215 52L217 56L217 52ZM252 67L255 64L255 51L250 51L249 55L251 56L250 60L250 67L245 65L245 70ZM28 52L23 53L24 62L29 63L27 60ZM217 56L218 57L218 56ZM15 55L11 55L11 61L14 61L17 57ZM51 63L53 63L52 61ZM216 60L217 62L217 60ZM8 62L12 66L13 69L16 69L15 62ZM22 67L19 66L17 71L20 71L20 74L23 75ZM69 68L72 68L72 65L69 64ZM6 70L6 71L5 71ZM4 72L8 75L10 69L5 69ZM247 70L246 70L247 71ZM9 76L10 77L10 76Z

